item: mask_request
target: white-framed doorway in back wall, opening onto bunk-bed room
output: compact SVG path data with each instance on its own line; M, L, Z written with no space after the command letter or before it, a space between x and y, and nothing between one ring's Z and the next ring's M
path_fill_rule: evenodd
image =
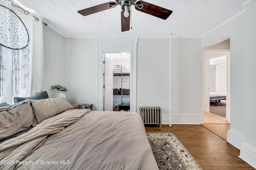
M112 62L112 65L117 65L116 67L119 67L118 65L124 65L126 68L123 68L124 66L122 66L122 69L126 72L127 68L130 68L130 79L129 82L126 83L122 83L122 85L124 85L124 87L119 87L116 86L116 88L114 88L114 85L112 83L112 88L108 89L108 93L110 95L113 95L114 93L114 89L119 89L121 88L121 91L119 93L121 93L122 95L124 94L129 94L129 100L130 100L130 108L128 110L130 110L131 112L136 112L136 80L137 80L137 43L138 43L138 39L137 38L98 38L98 108L97 110L99 111L103 111L103 110L112 110L113 109L113 102L110 101L108 102L108 106L109 107L104 107L104 98L106 97L105 90L104 90L104 83L105 81L108 81L105 79L104 77L104 68L106 66L106 64L104 64L104 58L106 57L106 54L115 54L115 55L121 55L119 57L125 57L125 55L129 55L130 56L130 63L117 63L114 64L114 61ZM127 54L128 53L128 54ZM111 63L111 62L110 62ZM130 66L130 67L129 67ZM110 66L110 69L112 69L113 71L113 67ZM126 70L125 70L126 69ZM109 71L110 72L110 71ZM120 74L120 73L119 73ZM113 73L110 72L109 77L112 77L114 79ZM113 82L113 81L109 81L109 82ZM126 84L129 84L129 86L126 86ZM106 85L105 85L106 86ZM110 90L111 89L111 90ZM129 90L128 90L129 89ZM122 97L124 99L124 97ZM108 96L108 99L112 99L112 97ZM109 100L106 100L109 101ZM111 103L112 103L112 108L111 108ZM128 104L127 104L128 105ZM127 110L128 106L124 106L126 108L119 108L119 110ZM116 109L116 108L115 108Z

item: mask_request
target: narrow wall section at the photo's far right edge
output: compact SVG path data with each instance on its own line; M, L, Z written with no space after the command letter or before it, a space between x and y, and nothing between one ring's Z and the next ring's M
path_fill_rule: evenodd
M244 105L244 112L246 113L245 116L245 128L255 130L255 121L256 121L256 114L255 114L255 94L256 94L256 20L254 16L256 16L256 1L250 2L250 5L246 6L246 13L245 13L245 22L246 22L246 29L245 29L245 71L244 71L244 81L245 87L245 105ZM255 134L255 131L254 131ZM251 144L256 148L256 135L252 135L250 130L246 130L245 132L245 139L248 144Z

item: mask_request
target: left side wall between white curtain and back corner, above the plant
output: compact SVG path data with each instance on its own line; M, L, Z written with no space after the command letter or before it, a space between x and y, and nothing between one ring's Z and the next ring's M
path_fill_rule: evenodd
M65 83L65 38L44 26L44 85L49 97L57 97L58 93L51 86L59 84L70 87Z

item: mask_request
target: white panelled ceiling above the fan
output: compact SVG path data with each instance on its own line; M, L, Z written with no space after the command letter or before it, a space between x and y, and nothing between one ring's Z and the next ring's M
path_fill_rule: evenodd
M111 0L14 0L34 12L62 36L69 37L201 37L244 10L248 0L144 0L172 10L167 20L139 12L132 6L130 31L121 32L121 6L82 16L78 10ZM114 0L113 0L114 1Z

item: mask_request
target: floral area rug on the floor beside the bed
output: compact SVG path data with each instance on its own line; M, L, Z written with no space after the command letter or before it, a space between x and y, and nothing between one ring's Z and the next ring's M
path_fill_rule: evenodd
M159 170L202 170L173 132L147 132Z

